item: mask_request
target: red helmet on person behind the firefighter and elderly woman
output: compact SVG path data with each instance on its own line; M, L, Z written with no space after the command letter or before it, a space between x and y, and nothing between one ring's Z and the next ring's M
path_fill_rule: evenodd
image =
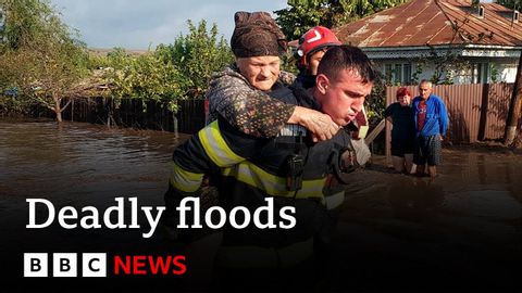
M299 47L297 48L297 54L300 56L299 64L306 66L309 54L324 47L338 44L341 44L341 42L332 30L324 26L312 27L299 38Z

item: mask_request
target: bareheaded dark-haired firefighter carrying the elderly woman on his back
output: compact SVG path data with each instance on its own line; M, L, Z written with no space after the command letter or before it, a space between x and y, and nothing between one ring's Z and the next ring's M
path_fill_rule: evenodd
M339 46L324 55L316 86L310 91L276 86L271 93L289 104L322 110L337 125L346 126L361 111L375 78L376 72L360 49ZM285 125L275 138L259 138L245 135L219 116L175 149L164 220L175 225L181 200L198 196L204 174L220 174L220 204L227 215L238 205L254 211L272 199L275 222L283 220L277 216L283 208L293 207L295 225L261 229L250 222L236 229L225 224L215 263L219 271L231 272L233 283L257 289L304 284L325 271L322 266L296 267L313 259L316 237L328 222L328 209L344 202L345 186L326 181L334 175L343 182L343 173L350 170L353 156L345 156L350 154L350 140L346 131L338 131L331 140L313 143L309 131L295 124ZM326 196L325 189L339 193ZM183 232L178 229L182 238ZM250 282L252 278L257 278L256 283Z

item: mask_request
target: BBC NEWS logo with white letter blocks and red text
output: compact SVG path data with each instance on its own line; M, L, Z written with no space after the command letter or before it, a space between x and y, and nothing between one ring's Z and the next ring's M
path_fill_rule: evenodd
M105 253L24 253L24 277L98 277L108 275ZM110 273L114 276L139 275L184 275L187 271L184 255L115 255ZM51 266L52 264L52 266ZM80 266L80 270L79 267ZM52 267L52 276L50 276ZM80 272L78 272L80 271Z

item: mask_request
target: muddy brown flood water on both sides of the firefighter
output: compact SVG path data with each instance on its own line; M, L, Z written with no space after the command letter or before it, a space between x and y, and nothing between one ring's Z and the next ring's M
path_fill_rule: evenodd
M164 252L159 233L141 238L145 228L65 230L54 224L26 229L26 199L47 199L57 209L91 205L101 213L119 196L136 196L140 206L163 205L172 151L187 137L79 123L0 120L2 276L15 280L13 288L45 283L18 278L24 252ZM443 160L435 180L391 174L382 157L353 174L321 291L520 290L522 155L451 148L444 150ZM199 286L185 290L207 289L209 270L196 272L202 275L192 276ZM141 281L147 289L172 283Z

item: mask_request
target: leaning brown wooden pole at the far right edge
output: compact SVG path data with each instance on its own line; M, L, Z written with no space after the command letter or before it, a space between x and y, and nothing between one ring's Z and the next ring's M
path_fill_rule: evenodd
M506 131L504 135L504 143L510 145L513 143L517 135L517 126L519 124L522 112L522 52L519 59L519 68L514 79L513 93L509 103L508 118L506 120Z

